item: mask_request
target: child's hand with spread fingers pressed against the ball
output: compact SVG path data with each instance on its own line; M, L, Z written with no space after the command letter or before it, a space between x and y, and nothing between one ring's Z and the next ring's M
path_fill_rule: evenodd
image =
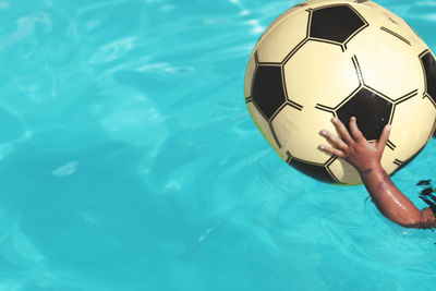
M389 138L389 124L385 126L376 143L370 143L359 130L354 117L350 119L351 135L339 119L334 118L332 122L341 138L326 130L320 131L320 134L335 146L332 148L327 145L320 145L320 149L346 159L361 173L372 172L377 168L382 168L380 159Z

